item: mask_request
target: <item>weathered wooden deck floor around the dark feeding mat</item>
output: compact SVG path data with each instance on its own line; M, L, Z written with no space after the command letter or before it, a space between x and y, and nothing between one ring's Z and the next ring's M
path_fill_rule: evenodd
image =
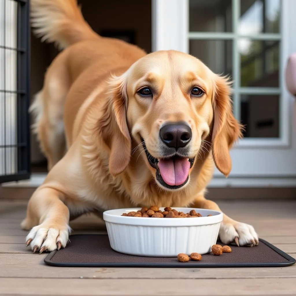
M296 257L296 200L220 201L232 218ZM284 268L67 268L25 247L25 201L0 201L0 295L296 295L296 264ZM81 217L75 233L94 233Z

